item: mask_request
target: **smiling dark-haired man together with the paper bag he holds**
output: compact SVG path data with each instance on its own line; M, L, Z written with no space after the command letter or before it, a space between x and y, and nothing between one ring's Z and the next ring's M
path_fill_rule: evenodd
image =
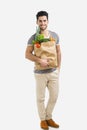
M61 50L59 37L55 32L48 30L48 13L39 11L36 14L39 34L45 40L42 43L35 43L36 33L33 34L27 44L25 57L35 62L34 74L36 79L36 96L40 126L43 129L50 127L59 128L59 124L52 119L52 112L58 97L59 71L61 65ZM34 44L32 44L34 41ZM36 41L37 42L37 41ZM34 52L34 53L33 53ZM45 90L48 88L49 100L45 107Z

